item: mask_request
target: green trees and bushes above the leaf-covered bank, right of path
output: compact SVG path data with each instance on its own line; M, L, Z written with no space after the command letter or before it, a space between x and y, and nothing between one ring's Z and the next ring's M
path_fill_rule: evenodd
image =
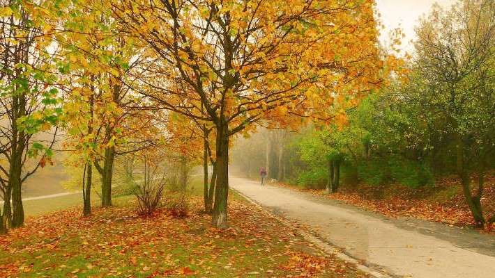
M348 124L314 124L293 136L285 145L296 150L286 158L294 169L287 178L335 191L341 171L348 184L411 187L457 174L481 227L490 216L480 202L484 177L495 163L495 3L435 6L417 33L408 81L397 78L361 101Z

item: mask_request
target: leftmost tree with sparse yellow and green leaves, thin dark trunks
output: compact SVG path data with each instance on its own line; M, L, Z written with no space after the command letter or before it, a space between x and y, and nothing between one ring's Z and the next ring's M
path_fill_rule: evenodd
M0 8L0 189L2 229L24 223L22 183L50 163L61 114L54 88L53 56L45 40L50 22L31 1L1 1ZM49 41L48 41L49 42ZM12 201L12 207L10 206Z

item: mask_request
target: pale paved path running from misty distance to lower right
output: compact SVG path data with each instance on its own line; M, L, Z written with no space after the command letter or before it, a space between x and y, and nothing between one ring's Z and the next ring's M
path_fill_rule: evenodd
M347 254L399 277L495 277L495 236L420 220L387 219L287 188L231 177L231 188L307 224Z

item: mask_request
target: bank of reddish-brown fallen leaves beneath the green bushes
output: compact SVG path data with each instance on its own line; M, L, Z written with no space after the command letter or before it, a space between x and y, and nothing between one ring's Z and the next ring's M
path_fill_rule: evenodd
M475 178L473 177L473 188L477 186ZM287 183L278 183L278 185L302 190ZM329 199L337 199L388 217L418 218L457 227L473 227L474 224L459 181L455 177L446 178L433 186L422 188L408 188L392 184L388 186L343 186L339 193L333 194L326 194L325 190L303 191ZM495 175L493 173L486 178L481 202L487 218L495 215ZM486 227L483 232L495 234L495 224L492 227Z

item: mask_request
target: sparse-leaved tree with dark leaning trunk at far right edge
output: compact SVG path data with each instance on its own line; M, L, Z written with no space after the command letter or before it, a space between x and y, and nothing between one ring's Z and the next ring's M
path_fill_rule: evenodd
M422 19L415 43L418 93L429 113L446 121L455 142L456 171L478 226L485 224L480 199L487 158L494 152L495 3L465 0L451 10L436 6ZM478 170L472 193L470 173Z

